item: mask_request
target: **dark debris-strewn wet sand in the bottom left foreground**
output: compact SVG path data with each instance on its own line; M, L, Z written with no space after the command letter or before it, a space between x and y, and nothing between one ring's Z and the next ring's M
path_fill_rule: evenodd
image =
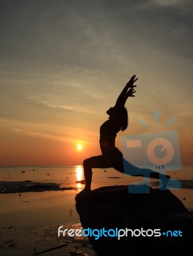
M69 225L66 228L82 228L80 224ZM95 255L88 239L71 239L71 237L56 238L57 227L4 227L1 228L1 255L19 256L36 255L45 252L45 255ZM63 245L63 246L62 246ZM62 246L61 248L57 248ZM72 254L73 253L73 254ZM41 253L43 254L43 253Z

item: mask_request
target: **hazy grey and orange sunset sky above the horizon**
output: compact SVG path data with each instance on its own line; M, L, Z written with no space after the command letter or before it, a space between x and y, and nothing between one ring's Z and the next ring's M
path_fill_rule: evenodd
M176 130L182 164L193 165L192 10L192 0L1 0L0 164L101 154L106 110L136 74L117 147L122 136Z

